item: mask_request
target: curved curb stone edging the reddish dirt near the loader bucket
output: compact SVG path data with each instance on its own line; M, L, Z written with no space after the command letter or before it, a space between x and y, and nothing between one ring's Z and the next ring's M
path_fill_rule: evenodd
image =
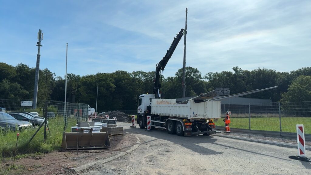
M132 135L132 134L130 134L130 135ZM133 136L136 137L137 142L136 142L136 144L134 144L134 145L132 146L131 149L129 149L129 150L127 150L127 151L123 151L123 152L121 152L121 153L119 153L119 154L117 154L117 155L115 155L115 156L106 158L106 159L104 159L104 160L95 161L95 162L91 162L91 163L87 163L87 164L81 165L80 167L77 167L77 168L72 168L72 170L75 171L75 172L78 172L78 171L84 170L84 169L86 169L86 168L89 168L89 167L91 167L92 165L94 165L94 164L96 164L96 163L107 163L107 162L112 161L112 160L114 160L114 159L116 159L116 158L119 158L119 157L121 157L121 156L124 156L124 155L126 155L126 154L131 153L132 151L134 151L135 149L137 149L137 147L141 144L140 139L139 139L136 135L133 135Z

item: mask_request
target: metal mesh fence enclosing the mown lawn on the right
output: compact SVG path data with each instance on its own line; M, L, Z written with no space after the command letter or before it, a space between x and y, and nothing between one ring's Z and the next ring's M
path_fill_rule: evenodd
M303 124L305 134L311 135L311 102L221 104L221 111L221 117L231 111L230 128L295 134L296 125ZM224 126L222 119L215 124Z

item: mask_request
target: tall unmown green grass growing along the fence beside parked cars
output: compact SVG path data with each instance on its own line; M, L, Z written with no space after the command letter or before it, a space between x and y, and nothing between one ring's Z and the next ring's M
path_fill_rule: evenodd
M80 119L81 120L81 119ZM18 138L18 145L16 155L21 154L33 154L33 153L49 153L53 150L61 148L61 142L63 139L63 130L64 130L64 119L63 117L57 116L54 119L49 119L49 131L47 131L47 140L46 143L43 143L43 133L44 126L41 127L37 135L33 140L27 144L30 138L34 135L35 131L38 128L32 128L28 130L19 131L20 135ZM71 126L76 126L77 120L74 117L67 118L67 127L66 132L71 132ZM15 152L16 144L16 134L17 132L9 131L3 132L0 131L0 150L2 157L12 157Z

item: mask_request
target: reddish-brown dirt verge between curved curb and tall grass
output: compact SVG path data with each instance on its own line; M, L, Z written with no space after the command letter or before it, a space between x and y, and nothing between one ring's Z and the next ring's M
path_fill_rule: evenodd
M15 161L19 167L16 170L10 170L7 174L27 174L27 175L54 175L54 174L78 174L71 168L81 166L96 160L109 158L119 152L130 149L136 143L137 139L130 134L114 136L110 138L111 148L79 150L54 151L49 154L38 156L29 156ZM13 164L13 160L2 160L1 168L7 169ZM1 174L1 171L0 171Z

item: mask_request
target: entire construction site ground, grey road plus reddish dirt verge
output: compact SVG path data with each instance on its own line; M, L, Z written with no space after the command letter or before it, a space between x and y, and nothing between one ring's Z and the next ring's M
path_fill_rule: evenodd
M22 165L11 174L309 174L311 164L288 158L297 155L294 148L235 140L216 135L180 137L166 130L130 128L131 123L118 122L124 135L111 138L110 149L54 152L16 161ZM133 136L134 135L134 136ZM231 135L262 140L295 143L295 139L234 133ZM132 147L137 149L107 163L96 163L75 172L71 168L112 157ZM310 142L307 141L306 144ZM306 151L311 157L311 151ZM229 163L229 166L228 166ZM2 168L12 160L2 162ZM30 169L30 170L28 170Z

